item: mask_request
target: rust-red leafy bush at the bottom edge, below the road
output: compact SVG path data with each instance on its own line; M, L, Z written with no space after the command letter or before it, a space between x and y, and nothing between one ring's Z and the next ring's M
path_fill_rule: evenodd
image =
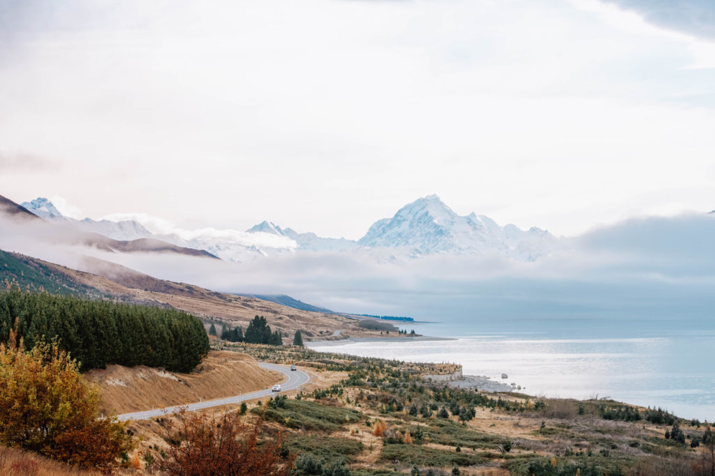
M220 417L182 410L178 428L167 427L171 445L159 469L177 476L288 476L295 455L282 451L283 432L259 442L262 420L245 425L240 416L224 412Z

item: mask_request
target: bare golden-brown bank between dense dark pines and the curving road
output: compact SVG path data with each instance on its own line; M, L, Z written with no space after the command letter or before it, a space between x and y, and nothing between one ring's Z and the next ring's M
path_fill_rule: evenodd
M85 375L99 384L105 415L230 397L283 380L283 375L261 368L250 355L221 351L209 353L192 373L108 365Z

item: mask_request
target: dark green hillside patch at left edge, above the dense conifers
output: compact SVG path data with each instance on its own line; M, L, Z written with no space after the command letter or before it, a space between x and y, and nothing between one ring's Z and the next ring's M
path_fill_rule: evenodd
M29 256L0 250L0 285L5 290L57 295L100 296L91 286L77 283Z

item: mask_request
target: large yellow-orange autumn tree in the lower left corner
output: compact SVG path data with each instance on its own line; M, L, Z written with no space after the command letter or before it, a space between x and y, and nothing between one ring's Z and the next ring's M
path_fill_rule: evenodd
M99 389L56 342L0 344L0 443L82 467L106 468L132 449L125 422L99 418Z

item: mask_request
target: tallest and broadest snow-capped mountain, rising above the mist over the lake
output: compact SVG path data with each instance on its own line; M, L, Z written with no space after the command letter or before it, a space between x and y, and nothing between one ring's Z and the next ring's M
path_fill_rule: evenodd
M358 243L370 248L405 248L415 256L498 253L533 261L553 251L558 238L540 228L501 227L475 213L459 216L438 196L430 195L400 208L392 218L375 222Z

